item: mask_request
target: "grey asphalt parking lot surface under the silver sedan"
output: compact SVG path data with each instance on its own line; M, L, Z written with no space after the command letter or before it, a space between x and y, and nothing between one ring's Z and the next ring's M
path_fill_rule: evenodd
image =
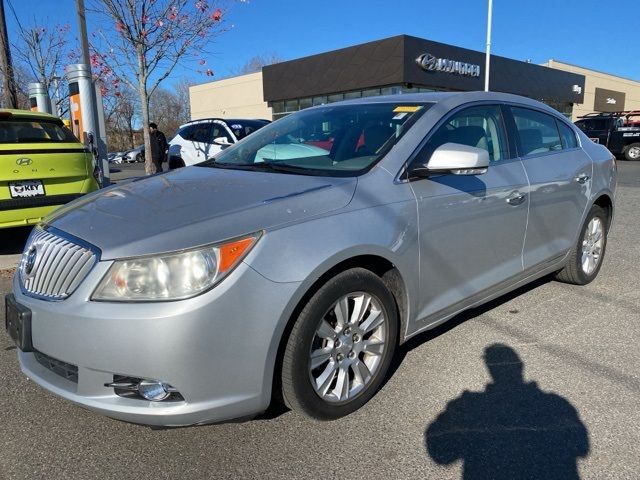
M2 332L0 479L640 478L640 162L619 173L592 284L542 279L412 339L338 421L118 422L27 380Z

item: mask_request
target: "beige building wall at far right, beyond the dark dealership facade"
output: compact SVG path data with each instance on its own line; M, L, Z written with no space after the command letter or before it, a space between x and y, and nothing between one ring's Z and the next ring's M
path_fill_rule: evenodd
M624 110L640 110L640 81L631 80L623 77L616 77L608 73L590 70L588 68L578 67L570 63L559 62L558 60L549 60L543 64L545 67L564 70L565 72L578 73L584 75L584 103L576 103L573 105L573 120L581 115L594 112L594 102L596 88L604 88L606 90L614 90L616 92L625 93Z

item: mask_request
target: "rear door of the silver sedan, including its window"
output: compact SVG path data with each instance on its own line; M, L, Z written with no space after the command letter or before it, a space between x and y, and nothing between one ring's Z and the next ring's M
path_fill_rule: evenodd
M529 108L511 107L511 112L531 184L524 247L524 267L530 268L561 257L576 242L593 167L561 120Z

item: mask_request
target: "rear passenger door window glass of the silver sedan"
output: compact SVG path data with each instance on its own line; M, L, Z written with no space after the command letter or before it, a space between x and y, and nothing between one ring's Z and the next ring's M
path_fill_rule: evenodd
M511 107L523 157L562 150L556 119L528 108Z

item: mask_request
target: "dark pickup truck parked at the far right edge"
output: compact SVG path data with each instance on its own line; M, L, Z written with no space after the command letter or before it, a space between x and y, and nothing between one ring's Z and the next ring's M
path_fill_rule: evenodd
M589 113L575 123L593 142L604 145L616 157L640 160L640 110Z

